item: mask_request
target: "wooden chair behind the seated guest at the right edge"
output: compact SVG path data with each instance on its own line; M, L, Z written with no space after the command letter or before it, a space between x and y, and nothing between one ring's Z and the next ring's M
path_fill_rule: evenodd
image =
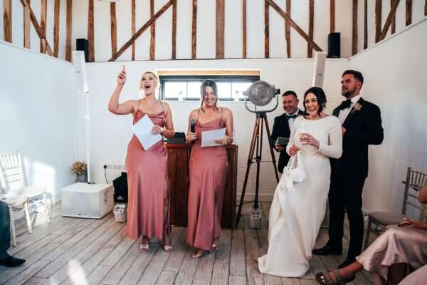
M411 167L408 167L406 172L406 180L402 181L404 183L404 201L402 205L401 214L391 213L391 212L370 212L368 219L368 229L367 234L364 240L364 249L368 247L369 244L369 234L371 232L371 225L375 224L378 226L382 232L390 224L398 224L404 219L406 215L406 209L408 204L419 209L421 222L427 222L427 205L420 204L417 200L418 192L427 185L427 174L423 172L414 171Z

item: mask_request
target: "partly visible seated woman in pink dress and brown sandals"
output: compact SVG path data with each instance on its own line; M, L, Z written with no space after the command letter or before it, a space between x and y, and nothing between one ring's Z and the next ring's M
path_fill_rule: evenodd
M421 190L418 200L427 204L427 187ZM427 224L405 218L399 227L390 227L381 234L356 260L342 269L317 273L317 282L346 284L365 269L376 285L426 284Z

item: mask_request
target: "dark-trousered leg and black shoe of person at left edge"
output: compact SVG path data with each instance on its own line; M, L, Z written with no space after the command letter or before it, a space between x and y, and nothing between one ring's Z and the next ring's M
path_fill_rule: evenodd
M9 217L9 206L0 201L0 265L7 267L20 266L25 262L23 259L11 257L7 250L11 245L11 217Z

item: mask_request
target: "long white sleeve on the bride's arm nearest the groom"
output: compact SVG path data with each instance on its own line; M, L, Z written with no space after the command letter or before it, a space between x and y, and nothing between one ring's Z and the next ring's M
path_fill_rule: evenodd
M339 158L342 155L342 132L341 123L337 117L330 116L327 123L327 133L329 144L320 142L319 152L322 155L332 158Z

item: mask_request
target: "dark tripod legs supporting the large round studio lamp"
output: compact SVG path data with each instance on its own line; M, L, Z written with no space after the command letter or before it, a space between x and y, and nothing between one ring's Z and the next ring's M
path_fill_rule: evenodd
M264 125L265 125L265 130L267 132L267 138L268 138L268 142L269 142L268 146L270 147L271 160L273 162L276 180L279 182L278 168L276 167L276 163L275 163L275 156L274 156L274 152L273 152L273 147L271 147L271 145L270 145L270 128L268 128L267 114L266 114L266 112L255 112L255 114L256 114L255 125L253 127L251 148L249 149L248 165L246 167L245 181L243 182L241 202L238 205L236 226L237 226L237 224L240 221L240 218L242 216L242 205L243 205L243 200L245 199L246 186L248 185L249 172L251 171L251 165L254 162L253 161L253 152L255 152L255 147L256 147L256 156L255 156L256 184L255 184L255 200L253 202L253 208L258 209L258 190L259 190L259 186L260 186L259 185L259 183L260 183L260 162L262 162L261 157L262 157L262 153L263 153L263 127L264 127Z

